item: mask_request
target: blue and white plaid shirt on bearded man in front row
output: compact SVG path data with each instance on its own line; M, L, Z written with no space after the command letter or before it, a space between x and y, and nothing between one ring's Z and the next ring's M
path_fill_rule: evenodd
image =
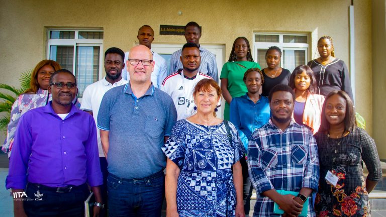
M253 216L279 216L273 213L273 200L262 192L299 192L303 187L318 191L319 159L312 131L294 120L282 131L269 119L249 139L248 170L257 193ZM312 204L310 195L308 216L315 216Z

